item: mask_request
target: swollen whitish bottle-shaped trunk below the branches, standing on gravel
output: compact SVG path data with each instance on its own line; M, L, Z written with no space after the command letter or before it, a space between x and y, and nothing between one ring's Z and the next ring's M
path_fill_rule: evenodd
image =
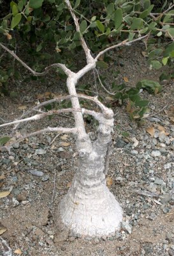
M120 228L122 209L106 186L105 158L94 150L79 159L68 194L61 201L62 222L82 237L113 236Z

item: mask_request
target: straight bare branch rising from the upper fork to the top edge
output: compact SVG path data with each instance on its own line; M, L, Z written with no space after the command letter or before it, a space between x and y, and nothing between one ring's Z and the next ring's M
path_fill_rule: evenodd
M80 26L78 24L78 18L76 17L75 13L73 12L73 8L71 6L71 3L69 2L69 0L65 0L65 3L68 6L69 12L71 13L71 16L73 17L73 20L75 22L76 31L80 33ZM86 42L85 42L81 33L80 33L80 40L81 40L82 47L83 47L83 50L84 50L85 55L86 55L87 63L93 62L94 58L92 58L90 50L87 47L87 44L86 44Z

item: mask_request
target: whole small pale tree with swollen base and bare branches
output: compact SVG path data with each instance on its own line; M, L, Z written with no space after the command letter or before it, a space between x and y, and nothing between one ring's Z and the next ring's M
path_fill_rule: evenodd
M80 3L80 1L76 2L76 4ZM82 31L84 28L82 28L82 23L79 25L78 19L69 0L65 0L65 3L75 23L76 32L80 36L80 42L83 51L85 52L87 61L87 65L85 65L85 67L83 67L78 72L72 72L68 67L66 67L66 65L62 63L55 63L50 65L49 67L45 68L45 72L36 72L26 63L20 60L20 58L18 58L18 56L13 51L10 51L1 43L0 45L4 50L8 51L16 60L18 60L25 68L27 68L34 76L45 76L48 70L53 67L61 68L61 70L66 74L66 86L68 88L69 95L65 97L57 97L56 99L43 102L34 107L33 111L36 111L42 106L46 106L52 102L57 102L64 99L71 99L72 108L51 110L47 113L39 113L38 115L0 125L0 127L13 124L18 125L22 122L31 120L39 120L45 116L59 114L62 112L73 113L75 118L75 127L48 127L46 129L33 132L32 134L28 134L27 136L32 136L40 132L47 131L71 132L76 135L76 147L78 149L78 170L75 173L75 177L73 178L73 182L71 184L71 188L69 188L68 194L64 196L61 203L59 204L59 212L62 223L64 223L64 226L68 227L74 235L80 234L83 237L111 236L114 235L117 230L119 230L120 223L122 221L122 209L117 200L115 200L114 196L107 188L105 180L105 167L107 166L105 162L106 159L108 159L106 155L108 145L110 145L111 142L111 133L113 130L113 111L112 109L106 108L106 106L104 106L96 97L78 95L76 93L76 84L82 76L96 67L96 63L98 62L99 57L103 56L105 52L111 49L115 49L116 47L131 45L133 42L139 40L147 40L150 34L146 33L146 35L141 36L139 33L139 36L133 40L134 35L131 32L132 34L130 33L129 35L131 38L122 40L117 45L107 47L103 51L100 51L96 57L93 57L83 37ZM115 26L118 26L119 28L120 24L122 24L122 14L120 15L119 13L121 13L121 11L120 9L118 10L119 11L117 12L117 15L119 17L119 21L116 19ZM150 13L151 10L152 9L150 8L148 13ZM134 29L139 29L139 26L142 28L140 21L140 18L134 19L132 24ZM105 31L101 22L98 21L97 25L100 31ZM83 26L85 26L85 29L87 29L86 22L83 22ZM82 108L79 103L80 98L91 100L99 106L101 111L96 112L94 110ZM25 116L27 116L29 113L31 113L31 110L27 111ZM85 131L83 114L91 115L98 121L98 136L95 141L92 141L89 138L89 134L87 134ZM17 128L17 126L15 128ZM26 138L26 136L18 138L18 140L20 141L24 138Z

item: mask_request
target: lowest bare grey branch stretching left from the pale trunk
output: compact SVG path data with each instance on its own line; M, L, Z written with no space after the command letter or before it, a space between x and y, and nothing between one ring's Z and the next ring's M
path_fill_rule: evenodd
M66 127L48 127L48 128L36 131L36 132L31 132L29 134L26 134L26 135L22 136L21 138L19 138L18 140L12 141L11 143L10 143L10 141L8 141L8 143L5 146L0 147L0 148L9 147L10 145L13 145L17 142L25 140L26 138L29 138L31 136L35 136L35 135L40 134L40 133L45 133L45 132L61 132L61 133L75 133L76 134L78 132L78 129L76 129L76 128L66 128Z

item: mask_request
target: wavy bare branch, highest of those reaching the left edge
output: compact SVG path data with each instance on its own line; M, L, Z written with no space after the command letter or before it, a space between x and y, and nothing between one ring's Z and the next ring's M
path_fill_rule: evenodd
M45 76L48 73L48 70L50 70L51 68L54 68L54 67L61 68L67 76L70 76L71 74L73 74L73 72L71 72L71 70L69 70L69 68L67 68L64 64L61 64L61 63L54 63L54 64L46 67L44 72L41 72L41 73L36 72L32 68L30 68L24 61L20 60L20 58L18 58L17 54L15 54L15 52L11 51L10 49L8 49L6 46L4 46L1 43L0 43L0 46L5 51L9 52L17 61L19 61L25 68L27 68L27 70L29 70L29 72L31 72L34 76Z

